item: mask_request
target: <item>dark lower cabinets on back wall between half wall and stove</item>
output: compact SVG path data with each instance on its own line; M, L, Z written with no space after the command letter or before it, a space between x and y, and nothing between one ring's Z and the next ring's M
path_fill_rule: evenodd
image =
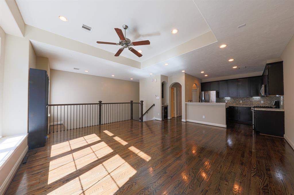
M227 120L252 123L251 107L230 106L227 108Z

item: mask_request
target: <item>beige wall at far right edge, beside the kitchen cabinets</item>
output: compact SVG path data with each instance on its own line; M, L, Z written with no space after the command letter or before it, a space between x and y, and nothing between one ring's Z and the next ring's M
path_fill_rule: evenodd
M294 149L294 35L283 51L285 139Z

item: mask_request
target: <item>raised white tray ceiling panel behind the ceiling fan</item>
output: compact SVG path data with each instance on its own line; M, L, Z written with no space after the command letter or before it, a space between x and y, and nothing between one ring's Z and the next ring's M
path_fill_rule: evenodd
M121 56L139 62L210 31L192 0L16 2L26 24L104 49L113 55L120 46L97 44L96 41L118 42L114 28L122 29L126 24L129 27L126 37L132 41L151 42L150 45L134 46L137 51L143 51L140 58L128 50L121 53ZM60 15L68 21L61 21ZM91 33L81 28L83 24L92 28ZM177 34L171 33L174 28L179 30Z

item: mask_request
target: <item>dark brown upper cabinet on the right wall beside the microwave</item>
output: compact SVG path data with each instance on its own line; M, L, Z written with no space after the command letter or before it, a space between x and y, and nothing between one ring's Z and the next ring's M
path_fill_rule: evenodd
M263 71L263 84L265 95L284 95L283 61L265 65Z

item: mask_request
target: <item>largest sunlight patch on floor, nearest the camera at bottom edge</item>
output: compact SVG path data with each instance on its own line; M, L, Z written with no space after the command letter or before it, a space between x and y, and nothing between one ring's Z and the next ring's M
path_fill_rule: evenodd
M136 172L115 155L48 194L114 194Z

